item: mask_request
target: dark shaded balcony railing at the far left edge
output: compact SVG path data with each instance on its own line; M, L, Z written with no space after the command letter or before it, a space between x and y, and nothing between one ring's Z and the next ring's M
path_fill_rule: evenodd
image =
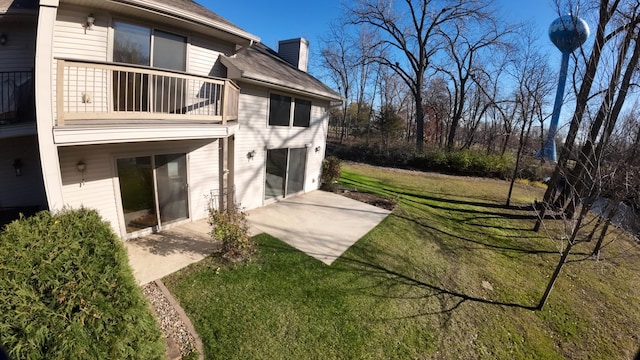
M33 122L33 71L0 72L0 126Z

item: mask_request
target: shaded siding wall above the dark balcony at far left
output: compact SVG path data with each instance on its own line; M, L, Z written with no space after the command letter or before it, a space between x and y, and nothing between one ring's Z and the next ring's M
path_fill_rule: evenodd
M7 37L7 43L0 45L0 71L32 70L36 48L35 21L1 22L0 34Z

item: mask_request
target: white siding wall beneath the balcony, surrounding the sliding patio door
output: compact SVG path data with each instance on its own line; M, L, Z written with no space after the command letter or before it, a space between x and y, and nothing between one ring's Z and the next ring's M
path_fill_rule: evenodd
M217 189L217 141L168 141L59 148L63 199L67 206L96 209L114 231L124 236L115 161L129 156L186 153L190 212L193 220L206 217L206 198ZM84 183L76 164L86 164Z

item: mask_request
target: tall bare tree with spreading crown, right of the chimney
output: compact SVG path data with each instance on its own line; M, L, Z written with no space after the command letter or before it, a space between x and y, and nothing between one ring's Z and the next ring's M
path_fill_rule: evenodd
M439 30L455 22L482 14L488 1L405 0L394 7L392 0L359 0L351 8L351 21L380 34L380 44L389 56L378 61L392 69L409 87L415 102L416 148L424 146L423 91L425 73L441 46Z

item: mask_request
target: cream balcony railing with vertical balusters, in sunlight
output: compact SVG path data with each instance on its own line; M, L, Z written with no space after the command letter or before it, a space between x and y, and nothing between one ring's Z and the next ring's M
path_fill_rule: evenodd
M145 66L58 59L57 125L99 120L238 118L238 86L226 79Z

